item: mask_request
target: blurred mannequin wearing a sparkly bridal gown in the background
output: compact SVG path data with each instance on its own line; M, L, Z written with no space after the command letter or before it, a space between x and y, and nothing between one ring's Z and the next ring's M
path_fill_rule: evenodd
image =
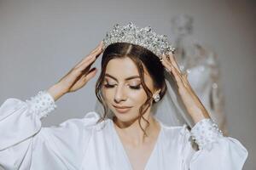
M179 15L172 20L177 48L176 59L183 72L188 73L190 85L206 106L212 119L227 134L224 115L224 95L221 88L220 65L217 55L202 47L191 37L193 20L188 15Z

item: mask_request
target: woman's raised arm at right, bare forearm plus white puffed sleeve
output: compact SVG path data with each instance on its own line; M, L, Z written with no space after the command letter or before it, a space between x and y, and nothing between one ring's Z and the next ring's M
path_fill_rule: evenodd
M195 122L191 132L184 130L183 170L241 170L247 159L246 148L237 139L221 133L191 88L187 75L180 71L174 55L164 55L161 61L177 82L183 104ZM190 137L199 146L196 152L192 150Z

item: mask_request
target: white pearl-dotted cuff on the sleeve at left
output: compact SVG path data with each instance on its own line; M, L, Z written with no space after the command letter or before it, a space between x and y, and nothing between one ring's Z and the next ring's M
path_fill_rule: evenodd
M57 107L53 97L45 90L39 91L31 99L26 99L26 103L30 106L29 113L36 114L40 118L48 116L49 112Z

